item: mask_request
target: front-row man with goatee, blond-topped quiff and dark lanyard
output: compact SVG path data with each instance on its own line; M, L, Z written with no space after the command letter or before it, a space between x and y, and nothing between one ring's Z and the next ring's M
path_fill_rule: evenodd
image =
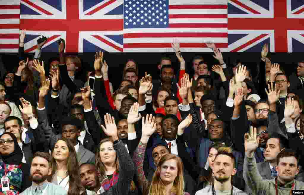
M237 173L236 159L229 147L221 147L214 160L213 174L214 184L199 190L195 195L202 194L235 194L245 195L247 193L232 186L233 176Z

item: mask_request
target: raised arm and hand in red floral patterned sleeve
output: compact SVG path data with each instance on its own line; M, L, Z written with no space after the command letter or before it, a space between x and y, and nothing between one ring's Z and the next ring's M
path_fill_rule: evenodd
M143 170L143 161L145 157L145 151L147 148L147 143L150 138L150 136L154 133L156 130L156 123L154 122L155 117L152 117L152 114L146 115L142 119L142 136L140 139L140 142L134 151L133 154L133 162L135 165L135 169L137 170L137 180L140 189L142 192L145 192L148 190L148 180L145 176L144 170Z

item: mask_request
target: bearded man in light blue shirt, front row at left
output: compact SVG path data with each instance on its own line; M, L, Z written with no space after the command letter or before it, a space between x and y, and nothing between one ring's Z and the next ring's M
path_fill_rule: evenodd
M58 185L50 183L47 179L52 174L50 163L50 155L46 152L36 152L33 162L31 163L30 178L32 186L23 191L22 195L35 194L50 194L50 195L65 195L67 191Z

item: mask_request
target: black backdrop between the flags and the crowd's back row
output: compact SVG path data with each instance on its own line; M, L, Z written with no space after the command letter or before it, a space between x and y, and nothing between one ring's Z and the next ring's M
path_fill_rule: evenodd
M77 55L82 62L82 71L76 74L77 78L86 81L85 73L87 71L94 70L94 53L66 53L67 55ZM213 53L182 53L183 58L186 61L187 72L193 74L192 70L192 59L196 55L201 55L209 62L209 70L213 64L218 64L218 61L212 57ZM18 67L19 56L18 54L0 54L2 55L3 63L6 69L12 70L14 67ZM33 58L32 54L26 54L30 58ZM290 75L296 70L297 62L303 60L302 53L269 53L268 54L272 63L279 63L284 69L287 75ZM58 53L42 53L41 58L44 61L46 72L48 72L50 59L54 57L59 57ZM161 57L170 57L175 71L179 69L178 59L175 53L105 53L104 59L109 65L109 80L113 84L114 90L119 87L123 75L123 66L126 64L127 60L133 59L139 65L139 75L138 79L142 78L147 72L152 75L153 78L159 78L160 71L157 69L157 64ZM235 60L240 60L248 68L252 70L253 78L256 76L256 67L261 59L261 53L223 53L224 61L227 66L232 66L231 64ZM46 65L47 64L47 65ZM119 67L119 68L118 68Z

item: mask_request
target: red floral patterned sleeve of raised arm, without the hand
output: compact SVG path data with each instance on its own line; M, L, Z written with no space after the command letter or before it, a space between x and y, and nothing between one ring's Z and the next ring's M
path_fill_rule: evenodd
M148 186L148 180L143 171L143 160L145 157L146 147L147 144L140 141L133 154L133 162L135 169L137 170L137 180L142 191L146 190L145 188Z

